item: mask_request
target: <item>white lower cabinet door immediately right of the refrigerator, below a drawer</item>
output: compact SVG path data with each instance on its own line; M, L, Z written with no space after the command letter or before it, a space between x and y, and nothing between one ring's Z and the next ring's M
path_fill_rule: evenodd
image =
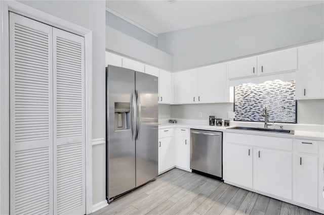
M158 174L163 173L174 165L174 144L172 137L158 139Z

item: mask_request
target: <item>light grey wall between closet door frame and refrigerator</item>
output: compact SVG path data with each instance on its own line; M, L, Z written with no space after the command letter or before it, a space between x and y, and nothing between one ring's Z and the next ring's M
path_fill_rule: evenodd
M93 31L93 114L92 135L95 138L105 138L105 1L20 1L32 8L44 11L76 25ZM105 145L93 150L93 162L97 157L105 156ZM105 159L104 159L105 160ZM105 162L103 160L103 162ZM105 170L93 170L93 204L105 200L106 191L102 187L105 182Z

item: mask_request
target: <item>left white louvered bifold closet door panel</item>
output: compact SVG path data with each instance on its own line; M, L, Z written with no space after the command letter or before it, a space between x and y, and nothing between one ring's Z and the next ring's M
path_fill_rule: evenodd
M52 27L10 13L10 213L53 213Z

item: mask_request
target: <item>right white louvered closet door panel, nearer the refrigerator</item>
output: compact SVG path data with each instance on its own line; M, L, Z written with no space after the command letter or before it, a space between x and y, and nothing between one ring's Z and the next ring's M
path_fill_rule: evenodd
M53 28L54 214L85 214L85 39Z

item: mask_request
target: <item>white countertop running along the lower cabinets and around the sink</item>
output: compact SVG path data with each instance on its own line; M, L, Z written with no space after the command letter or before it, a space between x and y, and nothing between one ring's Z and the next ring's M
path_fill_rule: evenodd
M237 126L237 125L231 125L229 127L233 127L233 126ZM245 126L247 126L247 125L245 125ZM240 134L262 135L262 136L272 136L272 137L281 137L281 138L296 138L296 139L309 139L309 140L324 141L324 132L320 132L320 131L318 131L318 129L315 129L315 131L295 130L295 134L281 134L281 133L226 129L229 127L196 125L196 124L190 124L190 123L175 123L175 124L161 123L158 125L158 129L166 129L166 128L189 128L190 129L191 128L191 129L201 129L201 130L211 130L211 131L222 131L222 132L228 132L228 133L240 133ZM250 127L257 127L257 126L250 126ZM289 129L291 129L291 128L289 128ZM321 130L321 129L319 129L319 130Z

